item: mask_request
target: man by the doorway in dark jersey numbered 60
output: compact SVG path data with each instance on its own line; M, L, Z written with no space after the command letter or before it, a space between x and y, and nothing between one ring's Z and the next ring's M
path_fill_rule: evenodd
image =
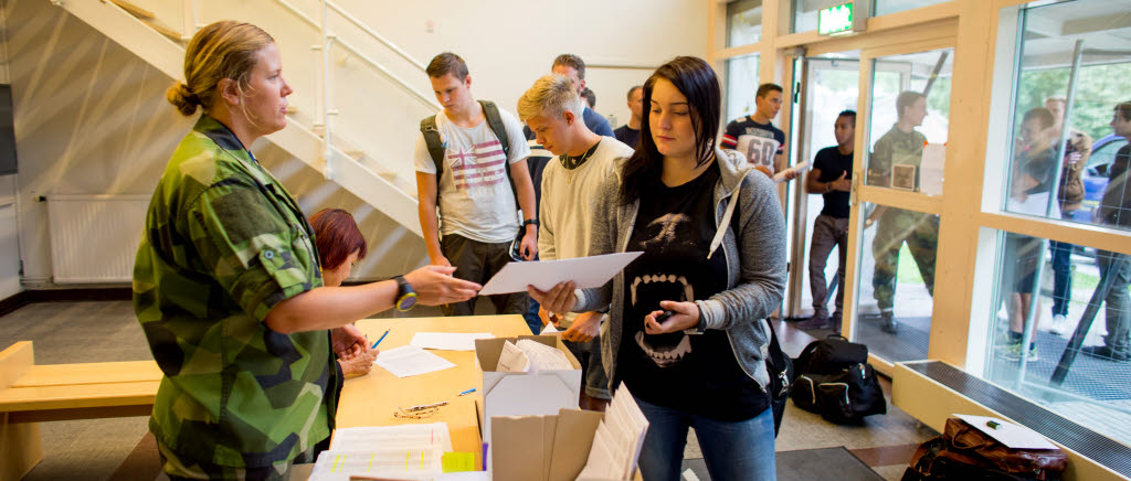
M754 94L754 114L736 119L726 124L719 146L736 150L746 161L759 167L769 176L785 168L785 132L774 126L772 120L782 110L782 86L762 84ZM796 178L798 172L791 172L786 180Z

